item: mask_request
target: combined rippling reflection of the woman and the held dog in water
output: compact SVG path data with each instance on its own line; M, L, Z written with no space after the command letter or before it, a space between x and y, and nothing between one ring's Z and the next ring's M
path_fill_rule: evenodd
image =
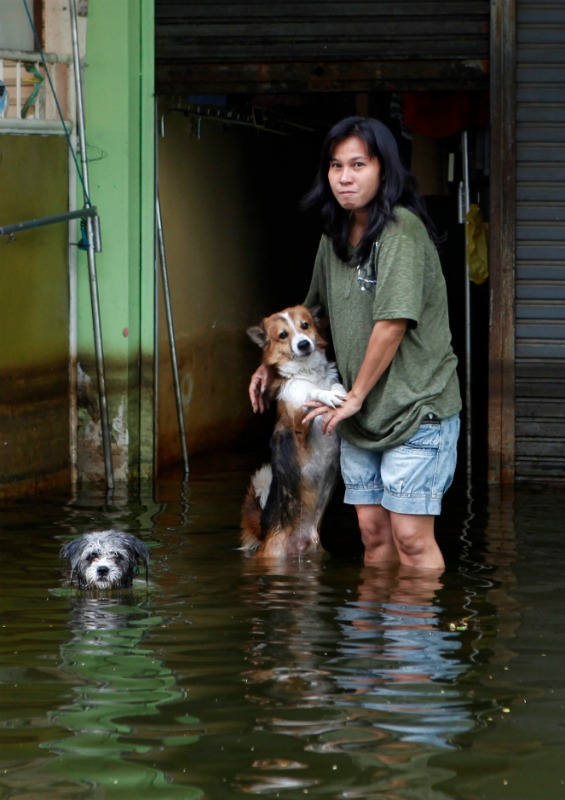
M426 755L473 726L458 686L468 667L442 607L443 582L404 567L361 567L355 584L339 587L331 566L315 560L286 573L264 570L246 570L246 600L257 613L253 668L243 678L258 707L256 730L298 737L309 755L292 765L259 757L240 785L252 793L288 788L293 770L295 789L325 794L330 779L334 797L396 797L408 785L404 774L412 787L429 789L441 773L427 768ZM320 756L331 778L313 777Z

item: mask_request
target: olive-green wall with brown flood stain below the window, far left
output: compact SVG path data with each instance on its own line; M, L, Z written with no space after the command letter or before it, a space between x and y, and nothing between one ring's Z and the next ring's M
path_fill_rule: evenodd
M68 209L67 144L0 134L0 224ZM67 225L0 238L0 497L68 484Z

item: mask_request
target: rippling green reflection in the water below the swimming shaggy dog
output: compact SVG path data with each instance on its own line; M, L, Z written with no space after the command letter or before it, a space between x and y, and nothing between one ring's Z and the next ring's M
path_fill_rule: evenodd
M77 593L68 605L72 636L61 648L59 672L72 686L72 699L50 718L69 735L41 745L58 755L45 771L63 783L104 790L104 797L157 789L167 797L196 800L199 791L171 785L147 756L156 747L192 744L198 735L190 731L198 730L198 720L179 719L178 730L168 726L166 735L151 732L146 723L143 740L136 734L142 719L157 717L163 703L178 700L175 676L147 644L162 619L144 607L136 592Z

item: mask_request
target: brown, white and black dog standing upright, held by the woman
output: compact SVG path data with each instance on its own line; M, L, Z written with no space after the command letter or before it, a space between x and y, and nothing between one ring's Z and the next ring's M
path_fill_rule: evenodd
M294 306L247 331L276 373L270 387L277 400L271 463L253 475L241 516L242 548L265 558L318 549L318 527L338 476L337 434L322 433L321 417L309 426L302 422L306 402L335 408L346 397L335 364L326 358L318 315L319 309Z

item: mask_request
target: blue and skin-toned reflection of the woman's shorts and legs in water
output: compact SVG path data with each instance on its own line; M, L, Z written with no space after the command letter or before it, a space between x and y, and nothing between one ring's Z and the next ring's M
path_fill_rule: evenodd
M335 665L340 685L371 698L363 701L365 708L393 714L381 723L385 728L404 742L440 747L469 724L464 707L453 703L456 691L430 691L432 683L456 686L466 668L460 639L442 619L442 589L434 571L363 569L358 597L340 615L343 656Z

